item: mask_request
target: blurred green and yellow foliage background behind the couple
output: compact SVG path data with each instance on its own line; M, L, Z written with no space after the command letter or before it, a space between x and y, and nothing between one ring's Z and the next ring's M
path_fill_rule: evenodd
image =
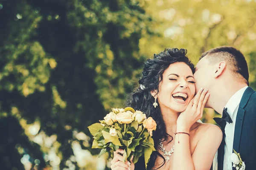
M256 88L255 22L255 0L0 0L1 169L108 169L87 126L166 47L239 48Z

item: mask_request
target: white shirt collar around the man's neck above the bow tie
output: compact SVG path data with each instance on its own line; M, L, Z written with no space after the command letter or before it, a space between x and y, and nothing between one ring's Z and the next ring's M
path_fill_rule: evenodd
M237 91L227 102L225 108L227 108L227 113L230 115L231 119L233 119L233 114L236 108L239 106L244 91L247 89L248 86L241 88Z

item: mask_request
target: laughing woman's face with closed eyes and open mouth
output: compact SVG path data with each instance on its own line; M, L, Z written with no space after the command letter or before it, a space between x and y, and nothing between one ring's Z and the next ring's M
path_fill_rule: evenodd
M183 112L195 95L195 79L188 65L175 62L163 72L157 101L161 111Z

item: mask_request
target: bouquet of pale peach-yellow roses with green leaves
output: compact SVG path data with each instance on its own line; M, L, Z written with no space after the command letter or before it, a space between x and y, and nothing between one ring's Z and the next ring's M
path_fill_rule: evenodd
M144 155L147 167L150 155L155 150L152 131L157 128L151 117L146 118L143 112L130 107L112 108L99 122L88 127L94 139L92 148L101 149L99 157L111 149L116 151L121 148L124 150L124 162L134 156L135 164Z

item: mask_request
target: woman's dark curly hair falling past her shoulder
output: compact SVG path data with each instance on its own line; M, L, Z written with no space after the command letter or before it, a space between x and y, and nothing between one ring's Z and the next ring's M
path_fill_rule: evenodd
M160 139L163 138L163 141L171 142L172 136L166 133L166 126L163 122L160 108L154 108L152 105L154 102L154 97L150 94L150 92L154 90L159 91L159 83L163 79L163 72L169 67L170 64L175 62L184 62L191 68L194 74L194 65L186 56L186 53L186 49L167 48L159 54L154 54L152 59L146 60L142 77L139 79L139 84L143 85L143 88L140 88L139 86L139 88L136 88L131 94L128 94L126 105L134 108L135 110L142 111L147 117L152 117L157 123L157 129L153 132L152 136L154 139L155 148L159 146ZM157 155L163 158L163 163L161 163L161 166L159 166L162 167L165 164L164 157L158 151L154 151L150 157L150 161L148 162L148 170L151 170L154 167ZM137 169L138 166L141 166L141 163L144 164L144 161L141 161L141 163L139 162L140 160L138 161L138 164L135 164L135 169Z

